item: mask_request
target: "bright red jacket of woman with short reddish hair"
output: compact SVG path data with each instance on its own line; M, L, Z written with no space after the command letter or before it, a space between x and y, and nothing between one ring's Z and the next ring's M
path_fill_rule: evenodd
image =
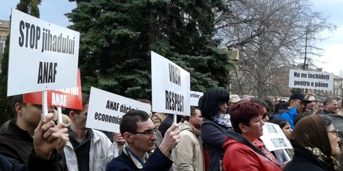
M255 140L254 144L257 148L261 149L265 155L269 156L271 160L256 153L252 148L246 146L246 144L226 137L226 142L224 143L225 154L223 159L223 170L281 171L279 163L272 153L263 149L264 144L259 140Z

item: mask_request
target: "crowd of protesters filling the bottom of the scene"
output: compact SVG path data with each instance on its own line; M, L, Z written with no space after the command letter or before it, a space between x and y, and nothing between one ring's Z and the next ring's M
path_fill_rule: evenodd
M240 171L341 170L342 100L323 103L309 91L281 98L239 97L212 88L191 107L190 116L132 110L119 132L86 128L83 109L65 109L62 122L54 107L13 96L15 117L0 128L0 170L75 171ZM147 99L137 99L150 103ZM279 125L293 149L270 151L263 125Z

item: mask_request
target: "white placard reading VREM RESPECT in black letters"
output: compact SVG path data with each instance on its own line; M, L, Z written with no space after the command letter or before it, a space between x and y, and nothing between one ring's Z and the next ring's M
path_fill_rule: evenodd
M151 52L152 111L165 114L191 115L191 77L180 66Z

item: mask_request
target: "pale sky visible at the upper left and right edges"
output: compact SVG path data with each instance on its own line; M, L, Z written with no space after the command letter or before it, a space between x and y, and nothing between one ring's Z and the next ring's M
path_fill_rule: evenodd
M0 0L0 19L9 20L11 8L15 8L19 0ZM338 28L333 33L324 31L322 38L328 38L322 42L317 42L316 46L325 49L322 57L316 57L316 66L323 68L323 71L339 75L343 70L343 60L340 54L343 50L343 0L310 0L314 3L314 11L322 12L323 16L328 17L328 21ZM62 27L67 27L68 18L65 13L71 12L76 7L75 3L68 0L43 0L40 5L40 19L49 23L54 23Z

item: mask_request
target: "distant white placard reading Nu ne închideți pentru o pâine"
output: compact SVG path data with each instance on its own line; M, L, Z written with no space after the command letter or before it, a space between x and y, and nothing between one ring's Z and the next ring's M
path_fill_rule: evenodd
M289 88L333 90L333 73L289 70Z

